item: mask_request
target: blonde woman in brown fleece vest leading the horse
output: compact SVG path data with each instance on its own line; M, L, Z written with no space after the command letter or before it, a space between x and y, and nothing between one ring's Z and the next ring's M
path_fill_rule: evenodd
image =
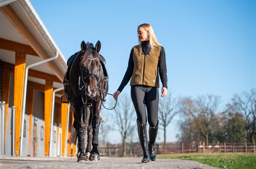
M154 144L158 131L158 88L160 87L158 74L162 82L161 97L164 97L167 95L167 70L164 48L158 43L152 26L143 23L138 26L137 32L139 45L131 50L127 70L118 90L114 93L114 98L117 100L118 95L132 78L131 97L137 114L138 135L143 150L141 162L150 162L156 160ZM147 120L150 125L148 144Z

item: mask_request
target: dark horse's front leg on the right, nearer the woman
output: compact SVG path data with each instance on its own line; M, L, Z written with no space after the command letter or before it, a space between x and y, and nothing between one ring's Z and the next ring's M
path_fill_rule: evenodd
M100 113L100 108L101 108L101 101L100 99L95 103L94 106L94 113L93 113L93 118L92 118L92 129L93 129L93 140L92 140L92 145L93 149L91 151L89 160L90 161L99 161L100 156L98 152L98 145L99 145L99 125L100 125L100 120L99 120L99 113Z

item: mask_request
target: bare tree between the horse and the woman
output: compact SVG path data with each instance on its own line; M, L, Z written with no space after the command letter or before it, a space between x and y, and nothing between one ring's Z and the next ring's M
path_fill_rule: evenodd
M113 122L111 128L122 136L122 156L126 156L126 138L131 136L135 128L136 113L131 103L129 95L123 93L119 95L116 107L110 111Z

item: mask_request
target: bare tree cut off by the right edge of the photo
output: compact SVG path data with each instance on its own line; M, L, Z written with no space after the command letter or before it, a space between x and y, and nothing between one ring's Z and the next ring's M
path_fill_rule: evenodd
M245 117L245 126L249 142L255 144L256 139L256 89L250 92L243 92L241 95L234 95L230 106L242 113Z

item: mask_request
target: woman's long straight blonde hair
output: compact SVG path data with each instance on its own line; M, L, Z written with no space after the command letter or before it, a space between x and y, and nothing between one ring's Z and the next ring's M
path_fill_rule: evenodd
M150 41L150 47L153 49L153 52L154 52L154 47L155 46L162 46L160 45L160 43L157 41L157 37L154 33L154 30L153 30L153 27L148 24L148 23L142 23L138 26L138 29L139 27L142 27L147 33L148 33L148 41ZM139 45L141 46L141 42L139 41Z

